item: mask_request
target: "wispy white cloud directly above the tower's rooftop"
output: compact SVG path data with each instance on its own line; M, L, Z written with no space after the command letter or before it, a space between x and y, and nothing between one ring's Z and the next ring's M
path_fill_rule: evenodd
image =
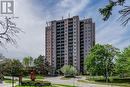
M78 15L79 12L85 9L90 0L61 0L57 6L59 8L65 9L66 13L71 15Z

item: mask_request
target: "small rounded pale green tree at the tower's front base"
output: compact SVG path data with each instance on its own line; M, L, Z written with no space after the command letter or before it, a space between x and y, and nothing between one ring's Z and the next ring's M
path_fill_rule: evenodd
M65 77L74 77L77 74L76 68L71 65L64 65L61 68L61 72L64 74Z

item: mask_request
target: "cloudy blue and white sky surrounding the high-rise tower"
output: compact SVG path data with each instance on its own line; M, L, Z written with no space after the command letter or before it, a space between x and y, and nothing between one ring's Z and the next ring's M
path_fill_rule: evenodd
M122 27L118 8L112 17L104 22L98 9L108 0L15 0L15 16L18 27L25 33L19 34L18 47L0 47L0 53L8 58L22 59L25 56L45 55L46 21L79 15L80 19L93 18L96 23L96 43L112 44L120 49L130 45L130 24ZM127 0L129 1L129 0ZM128 5L128 4L127 4ZM130 2L129 2L130 5Z

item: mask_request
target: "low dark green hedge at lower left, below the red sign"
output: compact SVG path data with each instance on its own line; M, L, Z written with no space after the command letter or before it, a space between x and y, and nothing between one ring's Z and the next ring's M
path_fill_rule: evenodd
M25 80L21 82L22 86L51 86L51 83L48 81L30 81Z

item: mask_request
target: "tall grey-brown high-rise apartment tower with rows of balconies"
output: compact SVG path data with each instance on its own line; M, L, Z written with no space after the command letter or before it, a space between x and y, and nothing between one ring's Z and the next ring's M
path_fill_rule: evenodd
M95 23L78 16L54 20L46 26L46 61L56 70L73 65L84 71L84 59L95 44Z

